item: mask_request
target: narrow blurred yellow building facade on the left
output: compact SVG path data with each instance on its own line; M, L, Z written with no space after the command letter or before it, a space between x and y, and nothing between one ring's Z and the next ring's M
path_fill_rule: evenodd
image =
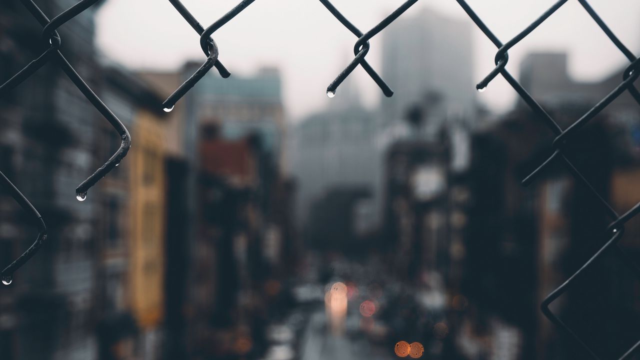
M129 224L129 296L131 311L143 329L164 316L164 234L166 200L164 119L141 109L134 121Z

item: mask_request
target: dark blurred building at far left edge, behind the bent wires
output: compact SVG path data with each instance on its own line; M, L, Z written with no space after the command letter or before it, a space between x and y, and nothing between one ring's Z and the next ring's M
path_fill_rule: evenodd
M49 17L67 1L38 1ZM61 52L90 86L95 74L90 8L60 29ZM19 2L0 5L0 82L4 83L48 45L42 26ZM0 290L3 359L92 359L95 356L95 202L78 202L77 184L95 171L97 124L105 121L65 74L49 63L0 99L3 171L47 223L44 247L13 283ZM31 224L13 200L1 195L0 248L15 259L33 242ZM89 199L91 199L91 194ZM3 262L0 266L6 266ZM34 346L38 344L38 346Z

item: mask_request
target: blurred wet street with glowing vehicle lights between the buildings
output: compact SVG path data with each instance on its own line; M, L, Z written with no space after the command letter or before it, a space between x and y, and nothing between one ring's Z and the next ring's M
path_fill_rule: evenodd
M291 351L285 350L284 341L272 341L271 356L264 360L396 359L396 344L403 341L407 347L417 345L411 354L405 348L401 357L439 358L442 339L431 329L437 328L442 312L433 301L419 304L424 291L408 291L401 281L380 272L374 261L363 265L341 258L321 263L310 257L292 290L297 305L289 309L287 325L277 325L292 332L287 341ZM422 343L432 345L430 354L423 356Z

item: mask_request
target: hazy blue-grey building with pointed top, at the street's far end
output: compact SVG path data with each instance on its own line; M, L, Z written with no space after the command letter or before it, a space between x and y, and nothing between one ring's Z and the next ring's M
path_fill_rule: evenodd
M293 131L291 172L300 181L300 223L308 220L312 204L331 190L371 192L376 187L381 171L375 149L376 115L365 110L357 94L348 79L340 87L340 97L330 102L331 108L310 115Z

